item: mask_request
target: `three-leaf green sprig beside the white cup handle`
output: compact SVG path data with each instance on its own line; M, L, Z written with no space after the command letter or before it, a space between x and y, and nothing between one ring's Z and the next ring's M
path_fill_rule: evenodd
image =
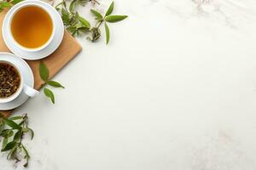
M54 88L64 88L64 86L62 86L60 82L49 80L49 69L44 64L43 60L41 60L39 65L39 74L41 79L44 80L44 85L48 84L49 86ZM55 104L55 94L49 88L44 88L44 95L48 97L53 104Z

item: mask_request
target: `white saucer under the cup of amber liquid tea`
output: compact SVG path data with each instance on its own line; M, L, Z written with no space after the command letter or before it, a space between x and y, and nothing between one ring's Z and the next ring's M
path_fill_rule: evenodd
M49 46L47 48L44 48L40 51L36 52L28 52L24 51L17 46L15 46L15 43L12 42L11 32L9 32L9 24L10 24L10 14L13 13L15 8L19 8L20 5L23 5L24 3L29 4L39 4L44 6L45 8L49 9L49 13L53 16L53 22L55 23L55 35L53 37L53 41L49 43ZM50 6L48 3L44 3L43 1L37 1L37 0L29 0L29 1L23 1L21 3L16 4L14 7L10 8L8 13L5 15L3 20L3 27L2 27L2 34L3 34L3 41L5 42L6 46L9 48L11 52L14 54L20 56L22 59L43 59L47 57L49 54L52 54L55 52L56 48L58 48L61 44L61 41L64 36L64 26L61 19L61 15Z

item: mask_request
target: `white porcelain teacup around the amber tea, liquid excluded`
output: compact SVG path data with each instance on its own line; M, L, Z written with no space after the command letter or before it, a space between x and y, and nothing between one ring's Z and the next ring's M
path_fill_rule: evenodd
M44 2L42 2L44 3ZM22 46L22 44L20 44L19 42L15 41L15 37L13 37L12 33L10 34L11 35L11 40L12 42L14 42L15 46L22 49L23 51L25 52L38 52L40 50L43 50L45 48L48 48L50 43L53 42L53 38L55 37L55 32L56 32L56 29L55 29L55 22L54 22L54 14L51 12L50 8L53 8L52 6L50 6L48 3L45 3L44 5L40 4L40 3L37 3L35 1L30 1L30 0L27 0L27 1L24 1L24 2L21 2L21 3L18 3L19 4L19 7L18 8L15 8L15 10L12 10L11 11L11 14L9 15L10 17L10 22L9 22L9 32L12 32L11 31L11 23L12 23L12 19L13 17L15 16L15 14L21 9L21 8L25 8L25 7L28 7L28 6L36 6L38 8L41 8L44 10L44 12L46 12L48 15L49 15L49 18L51 19L52 21L52 32L51 32L51 35L49 37L49 40L47 42L45 42L42 46L38 47L38 48L26 48L24 46ZM33 16L31 16L33 17Z

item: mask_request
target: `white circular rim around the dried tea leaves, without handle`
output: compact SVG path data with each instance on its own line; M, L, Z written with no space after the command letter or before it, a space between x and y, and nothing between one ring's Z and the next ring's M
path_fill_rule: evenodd
M12 94L11 96L9 96L7 98L0 98L0 103L7 103L7 102L10 102L10 101L16 99L22 92L23 87L24 87L24 77L22 76L20 69L14 63L10 62L9 60L0 59L0 63L12 65L13 67L15 67L16 71L18 71L19 76L20 76L20 86L19 86L18 90L15 92L15 94Z

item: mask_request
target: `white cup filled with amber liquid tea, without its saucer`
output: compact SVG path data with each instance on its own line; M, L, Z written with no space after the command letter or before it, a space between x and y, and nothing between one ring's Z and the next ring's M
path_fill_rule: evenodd
M18 48L39 51L49 46L55 23L49 8L38 3L23 3L10 14L9 32Z

